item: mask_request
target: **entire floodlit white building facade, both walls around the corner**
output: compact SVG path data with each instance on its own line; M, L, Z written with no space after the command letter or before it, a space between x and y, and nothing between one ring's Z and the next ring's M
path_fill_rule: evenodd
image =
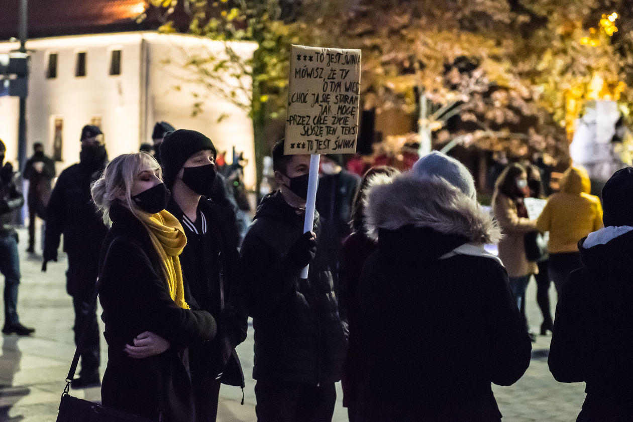
M0 43L0 53L17 47L17 43ZM182 81L187 54L202 50L221 54L221 42L188 35L128 32L34 39L27 42L27 48L33 51L27 98L27 156L32 154L34 142L42 142L47 154L53 154L55 118L63 118L63 161L58 163L58 170L78 161L81 128L93 118L101 118L110 158L138 151L142 142L151 142L154 123L165 120L176 128L208 135L218 151L228 152L229 162L233 146L244 151L248 158L246 184L254 185L253 125L248 113L210 95L204 102L204 113L193 117L197 100L191 92L203 94L204 87ZM121 75L109 75L113 49L122 50ZM235 43L234 49L252 56L256 44ZM85 77L75 77L80 51L87 53ZM50 53L58 54L56 78L46 77ZM165 65L165 59L171 64ZM227 76L226 83L236 82ZM244 78L242 84L249 87L251 81ZM177 85L180 90L174 89ZM228 117L218 123L220 115ZM0 97L0 139L7 146L7 158L13 161L17 157L17 133L18 99Z

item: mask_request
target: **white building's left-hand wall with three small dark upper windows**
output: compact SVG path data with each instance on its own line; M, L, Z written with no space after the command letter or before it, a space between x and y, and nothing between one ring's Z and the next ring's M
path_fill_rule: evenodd
M93 118L101 119L111 157L138 150L140 42L138 33L28 41L27 47L33 53L27 98L27 156L32 153L30 146L38 141L45 145L47 154L53 154L55 118L63 119L63 161L58 163L59 168L78 161L81 128ZM5 46L0 44L0 48ZM113 49L122 50L121 75L109 74ZM75 77L77 53L82 51L87 54L86 75ZM56 78L46 77L50 53L58 54ZM3 103L0 106L4 109ZM14 113L9 112L16 122L16 107ZM16 126L9 121L6 124ZM16 143L16 132L7 133L6 137Z

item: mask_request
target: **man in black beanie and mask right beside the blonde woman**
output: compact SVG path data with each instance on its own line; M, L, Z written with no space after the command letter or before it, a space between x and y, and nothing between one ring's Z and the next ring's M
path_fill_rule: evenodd
M172 191L167 211L185 230L180 266L197 307L215 318L218 333L202 347L189 349L191 383L198 422L215 421L220 383L244 388L235 346L246 338L248 313L237 284L235 215L208 199L216 182L213 142L195 130L167 133L160 146L163 178Z

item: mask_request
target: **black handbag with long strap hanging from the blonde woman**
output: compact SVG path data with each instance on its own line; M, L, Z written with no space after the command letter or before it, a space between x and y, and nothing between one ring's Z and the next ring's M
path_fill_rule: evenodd
M110 243L110 246L114 244L115 240L116 239ZM108 258L109 253L110 247L108 247L104 262ZM97 306L99 278L101 278L101 275L97 277L97 282L94 286L94 293L92 295L95 307ZM94 309L95 308L93 307L92 312L94 312ZM85 337L87 330L88 325L86 324L82 330L81 339ZM79 356L79 348L77 347L75 350L75 356L73 356L73 361L70 364L70 369L68 370L68 375L66 376L66 387L64 388L64 392L61 394L60 411L57 414L57 422L153 422L150 419L142 418L141 416L136 416L135 414L111 409L110 407L104 407L101 406L101 404L84 399L78 399L77 397L70 395L70 382L72 382L73 378L75 378L77 364L79 363Z

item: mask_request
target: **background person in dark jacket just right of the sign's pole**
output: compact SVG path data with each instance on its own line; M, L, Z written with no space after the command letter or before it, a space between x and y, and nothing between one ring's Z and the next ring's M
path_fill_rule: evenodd
M341 242L349 233L349 220L360 177L345 170L341 154L321 156L322 175L316 191L316 210L339 232Z

